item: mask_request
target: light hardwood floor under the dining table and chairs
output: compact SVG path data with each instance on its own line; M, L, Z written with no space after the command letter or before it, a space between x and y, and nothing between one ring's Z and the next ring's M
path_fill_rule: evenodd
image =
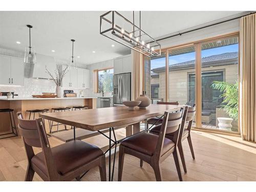
M116 131L118 138L124 135L124 129ZM193 131L191 137L196 159L192 159L188 143L184 141L187 174L184 172L182 174L185 181L256 181L256 143L242 141L239 137L199 131ZM49 140L51 146L62 143L52 137ZM84 141L99 147L108 144L108 139L102 135ZM39 150L37 151L39 152ZM169 156L161 165L164 181L179 181L173 156ZM24 181L26 168L27 159L22 139L20 137L1 139L0 181ZM116 155L114 180L117 180L117 169L118 155ZM108 168L106 170L108 172ZM36 174L33 180L41 181ZM91 169L81 180L99 181L98 168ZM125 155L122 180L155 181L156 179L150 165L144 162L141 168L139 159Z

